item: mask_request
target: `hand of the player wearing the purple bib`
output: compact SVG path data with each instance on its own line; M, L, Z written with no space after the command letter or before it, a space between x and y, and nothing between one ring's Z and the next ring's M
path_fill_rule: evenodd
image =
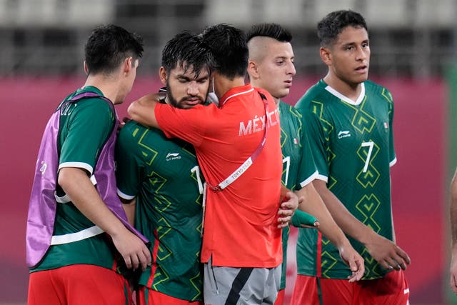
M126 262L127 268L145 270L151 265L151 252L138 236L124 229L117 236L111 236L114 246Z

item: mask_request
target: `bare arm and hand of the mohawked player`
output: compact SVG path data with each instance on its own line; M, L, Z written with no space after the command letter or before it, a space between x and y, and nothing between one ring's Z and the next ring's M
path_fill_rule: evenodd
M298 197L303 197L303 201L298 209L308 214L316 216L319 219L318 230L331 241L338 249L341 259L346 262L352 271L349 281L358 281L365 272L365 265L362 256L353 249L343 231L333 220L330 212L326 209L325 204L319 196L313 184L306 184L300 190L296 191Z

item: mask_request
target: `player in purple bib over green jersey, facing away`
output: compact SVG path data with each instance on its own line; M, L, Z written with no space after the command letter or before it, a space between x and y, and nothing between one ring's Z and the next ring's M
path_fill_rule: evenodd
M85 84L46 126L27 221L28 304L129 304L118 252L128 268L151 264L126 228L114 176L114 104L131 91L142 52L141 38L119 26L95 29Z

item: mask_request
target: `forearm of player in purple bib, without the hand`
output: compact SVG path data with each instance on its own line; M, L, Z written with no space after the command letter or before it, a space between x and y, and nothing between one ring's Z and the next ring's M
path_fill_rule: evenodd
M107 234L117 236L124 233L125 226L101 200L86 171L71 167L61 169L59 185L76 208Z

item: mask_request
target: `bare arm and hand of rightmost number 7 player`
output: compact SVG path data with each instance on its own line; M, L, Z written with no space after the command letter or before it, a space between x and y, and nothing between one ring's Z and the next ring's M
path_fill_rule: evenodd
M386 269L406 269L411 263L408 254L393 241L376 234L373 229L356 219L343 203L327 188L326 181L315 179L313 186L326 204L336 224L349 236L366 246L368 253ZM319 218L318 218L319 219ZM319 219L321 220L321 219Z

